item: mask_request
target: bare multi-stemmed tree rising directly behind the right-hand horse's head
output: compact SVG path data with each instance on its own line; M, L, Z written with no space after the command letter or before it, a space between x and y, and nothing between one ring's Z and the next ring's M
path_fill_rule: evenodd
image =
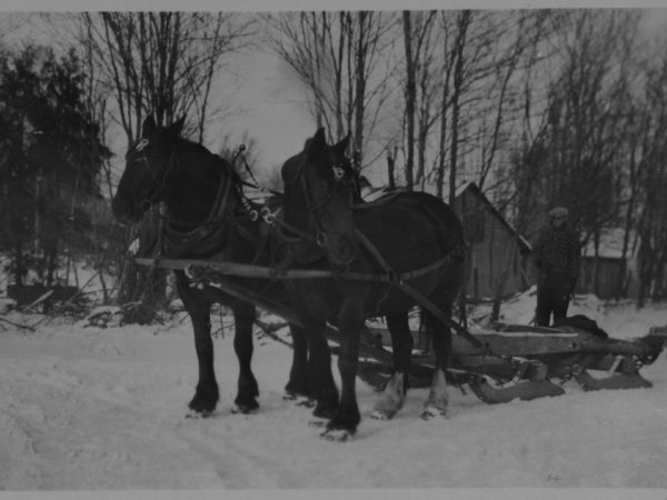
M267 17L273 51L306 86L331 139L352 133L364 157L390 94L394 17L387 12L286 12Z

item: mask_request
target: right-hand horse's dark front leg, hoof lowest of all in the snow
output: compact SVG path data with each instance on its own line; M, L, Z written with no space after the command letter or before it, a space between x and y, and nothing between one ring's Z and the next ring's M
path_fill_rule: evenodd
M345 441L357 432L361 420L355 382L359 358L359 337L364 327L364 300L347 299L338 313L338 331L341 337L338 369L341 379L340 404L334 419L322 434L329 440Z

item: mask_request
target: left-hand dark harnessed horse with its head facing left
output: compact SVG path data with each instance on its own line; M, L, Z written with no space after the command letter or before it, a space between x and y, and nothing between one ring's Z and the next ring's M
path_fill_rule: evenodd
M270 238L267 222L248 206L231 164L181 138L182 126L183 119L166 128L156 127L151 118L143 122L141 140L126 156L126 169L112 202L115 216L120 222L133 223L151 206L163 202L167 208L163 257L270 264L271 241L280 238ZM178 293L192 320L199 361L199 380L190 409L206 417L219 399L210 334L210 308L216 302L229 306L235 317L233 347L239 360L235 403L242 412L257 409L259 390L250 367L255 306L215 286L192 287L183 271L176 271L176 278ZM286 302L287 292L280 282L251 278L228 281L259 297ZM315 414L330 417L338 404L338 392L330 369L328 374L321 369L330 364L327 342L320 338L308 342L301 327L290 324L290 328L293 359L286 390L316 398ZM311 367L316 367L316 376Z

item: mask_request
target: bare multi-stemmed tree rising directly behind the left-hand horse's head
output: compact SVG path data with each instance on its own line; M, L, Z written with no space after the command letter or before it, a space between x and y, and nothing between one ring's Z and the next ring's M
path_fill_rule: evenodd
M248 46L253 28L251 18L225 12L86 12L79 21L80 39L113 98L128 148L148 116L159 124L189 116L189 129L201 142L216 112L212 81L225 56ZM139 232L156 237L160 223L152 210ZM137 229L128 230L126 243ZM166 300L166 274L139 269L133 259L125 259L121 269L119 301L141 301L146 307L137 309L135 320L150 321Z

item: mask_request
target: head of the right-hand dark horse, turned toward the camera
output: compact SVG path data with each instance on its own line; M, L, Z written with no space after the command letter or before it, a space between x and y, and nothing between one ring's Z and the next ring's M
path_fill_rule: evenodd
M313 233L336 264L349 263L359 250L352 220L358 176L345 154L348 143L349 136L328 146L319 129L281 171L286 221Z

